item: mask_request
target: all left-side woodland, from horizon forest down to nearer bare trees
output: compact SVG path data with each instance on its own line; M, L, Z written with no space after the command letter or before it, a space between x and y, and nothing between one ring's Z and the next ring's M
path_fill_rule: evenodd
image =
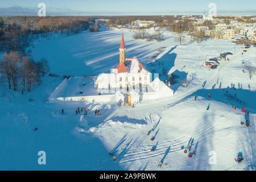
M60 34L68 36L87 30L94 18L85 16L11 16L0 17L0 76L9 89L31 92L40 77L49 72L47 60L33 60L26 48L39 38ZM54 76L54 75L53 75Z

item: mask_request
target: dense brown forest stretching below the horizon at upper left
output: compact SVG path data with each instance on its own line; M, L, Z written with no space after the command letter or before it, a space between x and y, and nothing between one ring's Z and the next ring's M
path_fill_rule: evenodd
M56 33L77 34L87 30L94 18L86 16L12 16L0 17L0 51L23 52L34 39Z

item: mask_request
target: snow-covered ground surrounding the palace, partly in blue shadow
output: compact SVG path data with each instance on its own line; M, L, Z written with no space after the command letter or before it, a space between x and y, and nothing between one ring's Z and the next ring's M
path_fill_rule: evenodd
M109 73L119 63L121 34L115 30L86 31L43 39L34 43L31 56L35 60L46 57L51 72L60 76ZM200 44L185 40L178 46L172 33L163 42L134 40L133 32L125 30L123 35L126 57L137 56L148 71L160 73L163 81L163 68L179 76L177 84L171 85L174 96L132 108L74 101L46 103L63 81L61 77L44 78L42 85L24 96L1 86L0 169L255 170L256 79L254 75L250 80L249 73L242 72L242 62L256 66L256 49L242 55L232 40L204 40ZM159 54L160 47L165 48ZM219 52L234 55L214 70L203 64ZM158 59L150 63L154 55ZM185 78L189 80L187 88L179 82ZM69 89L76 93L77 88ZM76 114L78 106L88 107L88 115ZM240 124L247 118L242 106L250 111L251 127ZM100 116L94 114L95 109L100 110ZM147 135L153 126L154 131ZM38 130L34 131L35 127ZM180 149L188 143L192 151L196 148L192 158ZM38 151L42 150L46 151L46 165L38 164ZM117 162L113 162L110 150L117 155ZM239 152L244 158L240 164L234 160ZM166 166L159 168L160 161Z

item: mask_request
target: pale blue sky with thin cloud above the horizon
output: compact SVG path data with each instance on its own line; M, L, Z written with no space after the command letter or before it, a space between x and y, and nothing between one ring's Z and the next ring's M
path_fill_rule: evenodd
M47 15L202 15L209 3L217 14L256 15L255 0L1 0L0 16L37 15L41 2Z

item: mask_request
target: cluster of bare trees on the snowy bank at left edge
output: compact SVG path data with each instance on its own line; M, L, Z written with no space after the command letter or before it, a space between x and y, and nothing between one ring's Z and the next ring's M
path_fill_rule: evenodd
M35 62L28 56L22 56L18 51L5 52L0 61L1 76L6 78L9 89L17 91L19 88L31 92L35 82L40 85L40 77L49 72L49 65L45 58Z

